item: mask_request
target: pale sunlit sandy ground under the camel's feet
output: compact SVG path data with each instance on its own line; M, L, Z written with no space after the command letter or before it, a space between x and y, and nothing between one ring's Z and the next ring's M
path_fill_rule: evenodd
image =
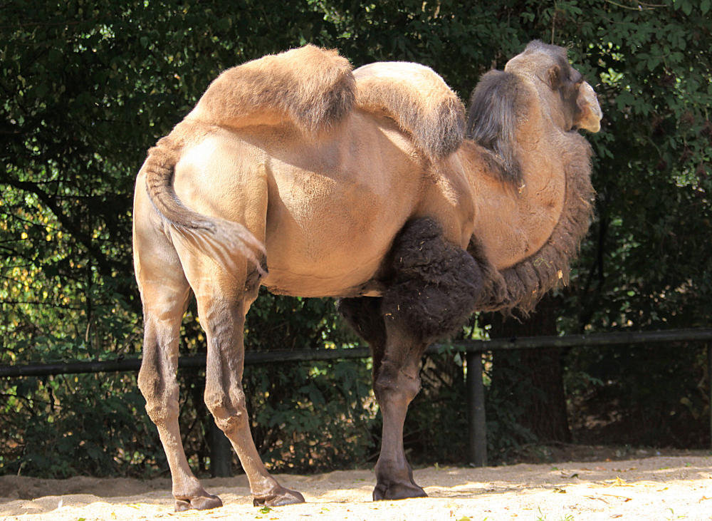
M490 468L429 467L428 498L372 502L369 470L281 475L307 503L253 507L244 476L203 480L224 507L173 512L167 479L0 476L3 520L712 520L712 456L683 455Z

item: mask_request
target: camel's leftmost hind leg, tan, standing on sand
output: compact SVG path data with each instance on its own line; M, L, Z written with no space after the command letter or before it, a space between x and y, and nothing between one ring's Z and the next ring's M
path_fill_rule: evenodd
M135 263L144 312L138 385L166 453L175 510L219 507L220 498L208 494L190 470L178 426L178 342L190 287L176 252L157 229L135 229Z

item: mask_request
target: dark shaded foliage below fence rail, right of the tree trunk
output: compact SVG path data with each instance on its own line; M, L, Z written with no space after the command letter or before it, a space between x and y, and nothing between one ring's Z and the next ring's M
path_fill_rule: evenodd
M565 386L578 440L706 447L710 411L703 347L677 346L675 356L665 356L659 346L572 350Z

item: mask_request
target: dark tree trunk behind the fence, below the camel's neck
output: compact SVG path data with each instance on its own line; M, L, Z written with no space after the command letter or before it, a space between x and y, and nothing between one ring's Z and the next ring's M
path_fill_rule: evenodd
M556 335L557 304L547 295L526 318L491 314L490 337ZM522 407L517 423L540 441L570 442L560 348L494 351L491 378L499 396Z

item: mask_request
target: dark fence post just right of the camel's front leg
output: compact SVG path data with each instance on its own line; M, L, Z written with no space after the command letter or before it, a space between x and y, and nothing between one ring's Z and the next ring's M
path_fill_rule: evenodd
M476 467L487 466L487 422L485 418L485 386L482 381L482 354L468 351L467 394L469 423L469 460Z

